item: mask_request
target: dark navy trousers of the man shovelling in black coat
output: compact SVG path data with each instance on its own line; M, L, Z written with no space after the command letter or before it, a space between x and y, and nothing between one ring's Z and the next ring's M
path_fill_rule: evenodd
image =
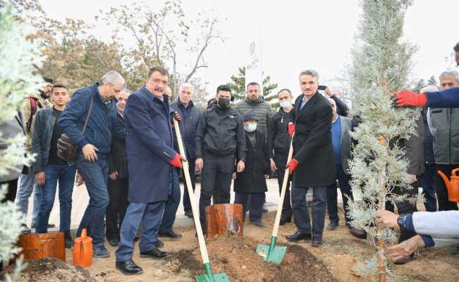
M312 230L310 214L306 207L307 188L292 188L292 208L298 232L322 239L325 224L326 187L312 188ZM312 232L311 232L312 231Z

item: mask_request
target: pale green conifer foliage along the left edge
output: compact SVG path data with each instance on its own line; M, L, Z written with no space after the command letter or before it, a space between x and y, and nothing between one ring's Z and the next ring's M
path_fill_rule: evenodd
M11 121L18 114L24 101L24 94L37 92L43 83L37 68L41 68L44 57L38 44L30 42L27 36L32 30L24 23L15 19L11 4L0 3L0 123ZM7 149L0 151L0 176L8 173L9 169L18 169L16 164L23 161L29 165L32 156L25 156L25 136L12 138L2 136L0 140ZM7 190L0 187L0 262L11 259L20 251L16 247L21 231L24 215L17 212L13 202L1 202L6 197ZM16 261L17 268L6 281L18 278L23 269L22 258Z

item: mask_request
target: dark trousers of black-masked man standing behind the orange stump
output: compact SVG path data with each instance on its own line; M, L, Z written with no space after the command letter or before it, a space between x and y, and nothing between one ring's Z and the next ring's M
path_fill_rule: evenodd
M231 200L230 187L234 171L234 154L219 156L205 152L202 159L204 166L201 173L200 220L204 231L206 226L205 210L210 205L214 186L216 185L220 190L219 204L229 204Z

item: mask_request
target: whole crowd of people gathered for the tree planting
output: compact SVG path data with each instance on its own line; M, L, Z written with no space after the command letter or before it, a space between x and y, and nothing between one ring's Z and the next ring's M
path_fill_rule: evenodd
M459 65L459 43L454 48ZM140 274L142 268L132 259L135 240L140 240L141 257L163 258L169 253L160 250L164 243L159 237L182 237L173 231L182 197L181 161L188 161L191 176L201 171L199 216L204 233L205 208L211 202L229 203L232 182L234 202L243 205L244 220L248 212L250 223L263 228L266 179L276 173L280 193L289 168L280 224L294 218L298 230L288 235L288 240L311 241L312 247L322 245L326 214L330 220L326 228L333 231L338 227L338 187L343 195L345 225L351 234L366 238L365 230L351 225L348 204L353 201L349 161L355 142L350 132L358 126L359 118L348 116L348 106L337 92L324 87L325 94L319 93L316 71L300 73L302 94L295 101L288 89L277 93L281 107L276 113L264 100L257 82L248 83L246 98L234 105L231 89L220 85L207 109L201 110L192 102L194 88L188 83L180 85L178 99L170 101L169 78L165 68L151 68L145 85L132 92L119 73L109 71L99 82L72 95L66 85L45 79L37 94L25 97L23 110L15 119L0 125L6 137L27 135L27 151L35 154L33 164L17 164L23 169L10 170L1 177L0 182L8 185L5 200L14 201L18 210L27 214L33 193L31 227L36 233L47 233L52 227L49 216L59 183L59 231L65 235L66 247L71 248L76 178L78 185L85 183L90 197L76 235L87 229L94 257L110 256L107 240L118 247L116 268L124 274ZM398 141L409 160L412 193L422 187L427 212L458 210L457 203L448 201L446 185L436 171L450 175L459 164L455 125L459 110L450 109L459 106L454 96L459 97L459 73L445 71L439 80L440 90L446 91L429 86L422 94L396 94L398 106L426 107L417 121L417 134ZM185 156L178 153L173 118L179 121ZM292 138L293 159L288 162ZM61 146L68 145L68 140L79 148L75 161L60 156ZM195 178L191 180L195 190ZM308 190L312 190L310 204L306 200ZM186 188L184 191L183 209L192 217L190 195ZM312 206L311 216L308 206ZM395 262L408 262L418 247L447 245L459 239L451 225L444 231L439 224L444 216L457 221L457 212L425 214L408 201L397 204L400 216L393 214L390 203L386 209L392 212L379 211L376 224L400 227L400 245L388 250ZM23 233L30 232L24 223ZM445 235L448 232L452 233L449 237Z

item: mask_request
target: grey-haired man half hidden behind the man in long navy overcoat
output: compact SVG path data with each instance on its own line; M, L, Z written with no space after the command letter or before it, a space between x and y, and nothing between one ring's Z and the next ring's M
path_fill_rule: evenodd
M178 99L171 103L171 108L174 111L180 113L181 121L178 124L180 127L180 133L183 138L183 145L185 145L185 151L187 154L188 164L190 164L190 176L192 190L195 190L195 160L196 160L196 131L197 125L201 118L201 111L195 104L193 104L191 98L194 92L194 87L190 83L183 83L180 85L178 92ZM190 195L188 195L188 189L183 190L183 209L185 210L185 216L192 217ZM178 201L180 202L180 200Z

